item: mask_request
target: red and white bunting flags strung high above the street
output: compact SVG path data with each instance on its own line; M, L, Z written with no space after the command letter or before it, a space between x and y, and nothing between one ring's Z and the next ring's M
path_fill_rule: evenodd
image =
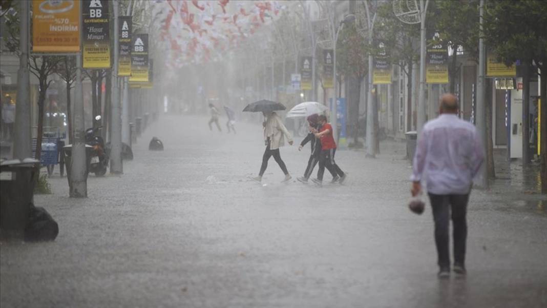
M191 2L191 6L188 2ZM266 24L266 12L277 16L283 7L277 1L259 1L254 6L230 0L156 1L164 9L160 39L170 45L167 67L211 61L235 48ZM237 5L234 13L227 8Z

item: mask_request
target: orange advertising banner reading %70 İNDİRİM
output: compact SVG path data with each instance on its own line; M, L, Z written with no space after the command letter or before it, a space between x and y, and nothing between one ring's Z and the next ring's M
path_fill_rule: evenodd
M32 1L32 51L78 53L80 51L80 1Z

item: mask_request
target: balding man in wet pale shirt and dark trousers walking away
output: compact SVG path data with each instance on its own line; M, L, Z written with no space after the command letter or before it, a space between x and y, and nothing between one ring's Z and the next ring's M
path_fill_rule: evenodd
M421 193L425 179L435 221L439 278L450 276L449 224L453 224L453 270L465 274L467 202L473 177L484 159L480 136L473 124L458 118L458 99L445 94L440 115L423 126L412 164L412 196ZM423 176L425 175L425 176Z

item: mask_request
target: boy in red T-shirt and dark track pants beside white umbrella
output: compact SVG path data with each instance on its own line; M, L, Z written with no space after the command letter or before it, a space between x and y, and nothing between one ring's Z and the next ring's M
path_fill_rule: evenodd
M336 162L334 162L334 154L336 153L336 142L333 137L333 127L327 123L327 117L319 115L319 125L321 129L315 134L317 138L321 140L321 154L319 154L319 171L317 172L317 178L312 179L318 185L323 183L323 173L325 172L325 166L332 169L340 177L339 183L342 184L346 181L346 173L340 169Z

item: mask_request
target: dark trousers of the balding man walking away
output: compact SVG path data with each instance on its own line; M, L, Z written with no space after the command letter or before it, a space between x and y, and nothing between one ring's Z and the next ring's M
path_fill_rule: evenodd
M429 193L435 221L435 245L437 246L440 268L450 268L449 225L452 213L454 264L465 265L465 240L467 239L467 202L466 195L435 195Z

